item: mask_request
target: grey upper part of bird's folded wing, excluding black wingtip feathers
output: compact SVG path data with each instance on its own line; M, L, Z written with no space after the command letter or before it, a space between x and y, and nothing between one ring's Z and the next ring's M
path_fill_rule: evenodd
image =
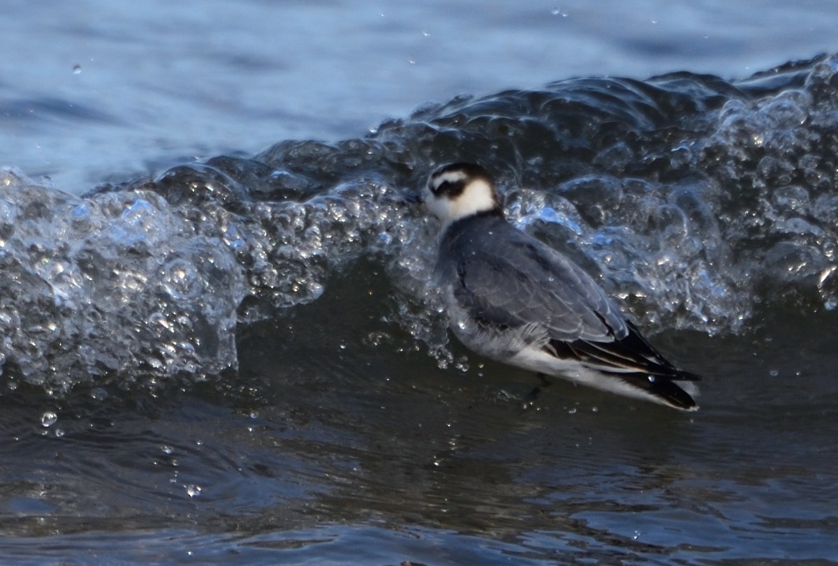
M499 327L535 322L561 341L628 335L623 315L581 268L509 224L493 228L468 246L454 243L447 259L453 296L471 316Z

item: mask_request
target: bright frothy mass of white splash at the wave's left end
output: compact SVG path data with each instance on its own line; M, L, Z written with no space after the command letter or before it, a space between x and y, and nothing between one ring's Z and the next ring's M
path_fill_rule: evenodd
M3 172L0 357L28 383L235 367L243 270L156 193L76 198ZM223 292L219 292L223 290Z

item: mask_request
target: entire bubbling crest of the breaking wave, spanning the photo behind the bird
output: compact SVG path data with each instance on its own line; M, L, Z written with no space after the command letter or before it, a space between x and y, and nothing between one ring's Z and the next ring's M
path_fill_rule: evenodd
M237 327L317 301L360 257L391 286L382 323L450 365L436 226L406 196L455 160L494 172L510 221L649 331L741 332L759 303L835 308L836 85L835 57L739 83L566 80L84 197L4 170L0 368L54 394L211 378L237 367Z

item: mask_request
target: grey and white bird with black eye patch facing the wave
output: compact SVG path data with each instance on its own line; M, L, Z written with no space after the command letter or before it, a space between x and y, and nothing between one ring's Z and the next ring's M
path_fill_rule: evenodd
M420 200L441 223L433 280L464 346L542 376L698 409L700 376L664 358L586 271L510 224L484 167L437 167Z

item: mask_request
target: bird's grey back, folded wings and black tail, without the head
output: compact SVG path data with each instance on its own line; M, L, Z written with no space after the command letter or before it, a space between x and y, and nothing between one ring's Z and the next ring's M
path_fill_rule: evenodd
M451 224L440 244L437 277L453 311L464 314L465 327L455 333L473 350L504 359L521 347L541 348L665 404L696 409L673 380L699 377L657 352L590 275L502 215Z

